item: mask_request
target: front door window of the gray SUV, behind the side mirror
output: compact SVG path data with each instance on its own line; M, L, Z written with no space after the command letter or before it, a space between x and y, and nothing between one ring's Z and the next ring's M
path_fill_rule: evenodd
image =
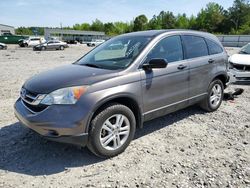
M170 36L162 39L148 54L147 59L161 58L168 63L183 60L183 50L180 36Z

